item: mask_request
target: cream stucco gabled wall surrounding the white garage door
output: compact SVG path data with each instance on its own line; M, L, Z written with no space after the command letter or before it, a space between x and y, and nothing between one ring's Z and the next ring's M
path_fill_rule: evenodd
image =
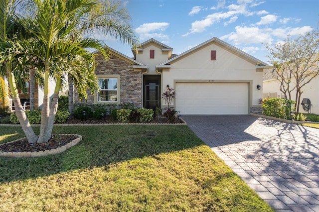
M210 60L210 51L216 50L216 61ZM219 45L211 44L197 52L170 64L169 71L163 71L162 84L174 87L176 80L218 82L247 82L249 83L250 106L258 106L262 98L263 72L256 71L256 65L236 56ZM217 91L218 92L218 91ZM177 96L178 94L176 94Z

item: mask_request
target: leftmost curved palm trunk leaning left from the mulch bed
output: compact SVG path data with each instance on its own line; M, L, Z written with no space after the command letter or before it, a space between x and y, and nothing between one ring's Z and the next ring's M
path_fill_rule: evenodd
M7 69L9 69L7 67ZM15 114L16 117L18 118L20 125L22 127L22 130L28 140L29 143L35 143L38 139L38 137L36 136L36 134L34 133L30 122L28 120L28 118L25 115L25 112L22 108L20 99L19 99L19 93L16 89L16 85L15 85L15 79L14 79L14 75L12 72L9 73L9 85L10 85L10 91L11 91L11 95L12 95L12 100L13 100L13 105L14 105L14 109L15 109Z

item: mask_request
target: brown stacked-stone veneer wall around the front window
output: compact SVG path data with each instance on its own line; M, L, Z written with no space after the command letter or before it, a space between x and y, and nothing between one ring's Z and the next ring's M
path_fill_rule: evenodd
M134 107L142 107L142 73L134 72L133 65L121 58L112 55L105 60L103 55L95 58L96 75L120 75L120 104L133 103ZM74 103L94 104L94 96L88 91L87 101L79 101L77 90L74 89Z

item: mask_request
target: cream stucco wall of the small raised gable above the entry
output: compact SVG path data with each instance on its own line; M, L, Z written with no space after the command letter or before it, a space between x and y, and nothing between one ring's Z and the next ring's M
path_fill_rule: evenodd
M150 58L150 50L154 49L155 58ZM147 65L149 67L148 74L158 74L156 72L156 66L164 61L168 60L168 52L161 50L161 46L155 43L150 43L149 45L143 46L143 51L139 51L136 56L136 60Z

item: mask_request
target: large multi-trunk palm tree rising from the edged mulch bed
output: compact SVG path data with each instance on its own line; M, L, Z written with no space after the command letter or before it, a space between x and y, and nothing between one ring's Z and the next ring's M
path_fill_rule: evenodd
M2 46L9 46L9 51L5 51L5 48L0 50L4 58L12 61L6 66L7 73L13 73L10 68L11 65L20 61L17 58L35 57L41 61L40 64L43 64L43 68L38 69L42 71L44 76L40 135L37 138L32 130L33 134L27 136L30 143L47 142L51 135L58 105L58 92L61 83L65 83L62 76L70 76L80 97L86 98L87 88L91 92L98 89L97 78L94 74L95 58L86 48L95 48L106 58L108 55L102 42L83 38L85 32L97 29L100 32L109 33L117 39L123 39L132 44L133 47L138 45L132 27L126 23L129 16L124 10L115 9L119 5L118 3L113 5L109 1L101 2L100 0L33 0L33 2L36 12L24 20L27 25L32 26L28 27L28 30L33 38L21 42L8 40ZM123 18L116 19L112 15L105 16L103 12L108 11L108 9L122 15ZM116 25L117 21L118 25ZM114 30L113 27L118 28ZM3 61L2 59L1 62ZM17 65L13 67L17 67ZM49 78L56 83L51 109L49 108ZM9 75L9 82L14 104L21 105L18 95L16 95L13 74ZM16 109L16 114L26 134L25 128L30 124L22 107L21 110Z

